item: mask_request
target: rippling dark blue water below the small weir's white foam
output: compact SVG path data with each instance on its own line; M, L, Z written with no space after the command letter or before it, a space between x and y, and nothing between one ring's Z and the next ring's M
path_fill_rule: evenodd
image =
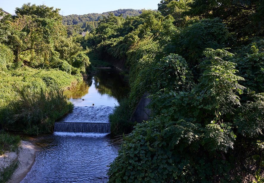
M107 134L56 132L38 139L32 170L22 182L107 182L118 146Z

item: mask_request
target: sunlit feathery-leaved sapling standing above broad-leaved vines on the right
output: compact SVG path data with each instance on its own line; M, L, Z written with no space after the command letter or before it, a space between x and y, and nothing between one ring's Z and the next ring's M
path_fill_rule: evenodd
M204 51L206 59L199 65L204 69L201 76L199 90L200 98L207 108L214 108L222 114L234 114L235 108L241 106L240 97L246 89L238 84L243 77L235 75L235 63L224 61L223 57L232 57L233 54L225 49L207 49Z

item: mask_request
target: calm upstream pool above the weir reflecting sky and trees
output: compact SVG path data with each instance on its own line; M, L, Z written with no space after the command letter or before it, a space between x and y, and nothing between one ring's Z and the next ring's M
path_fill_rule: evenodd
M90 80L64 93L75 106L115 106L128 88L116 69L100 69ZM84 99L84 100L82 100Z

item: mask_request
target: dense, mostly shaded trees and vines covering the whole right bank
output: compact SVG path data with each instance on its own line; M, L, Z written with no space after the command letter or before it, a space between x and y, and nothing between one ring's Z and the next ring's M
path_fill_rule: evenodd
M152 116L124 138L109 182L263 182L261 2L162 0L159 11L109 14L77 40L129 70L113 133L152 94Z

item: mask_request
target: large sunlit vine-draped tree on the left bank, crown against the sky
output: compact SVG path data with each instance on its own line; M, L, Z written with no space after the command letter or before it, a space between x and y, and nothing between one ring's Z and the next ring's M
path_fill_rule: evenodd
M48 63L48 58L56 54L54 42L64 34L58 11L45 5L31 6L30 3L16 8L17 16L10 23L12 33L7 41L14 52L15 61L19 61L20 54L26 51L30 51L31 56L41 58L43 64Z

